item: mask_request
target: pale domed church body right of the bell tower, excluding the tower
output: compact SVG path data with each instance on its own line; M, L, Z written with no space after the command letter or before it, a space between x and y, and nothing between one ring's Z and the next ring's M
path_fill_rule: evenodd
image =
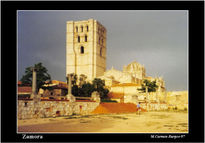
M162 77L146 76L145 67L136 61L124 66L123 71L114 69L107 70L103 76L105 85L110 90L108 97L120 103L138 102L165 102L165 83ZM144 80L156 81L158 86L156 92L143 93L140 89Z

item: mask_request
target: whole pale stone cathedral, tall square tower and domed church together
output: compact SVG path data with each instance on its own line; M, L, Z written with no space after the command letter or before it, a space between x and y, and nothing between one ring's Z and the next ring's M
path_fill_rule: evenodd
M67 21L66 32L66 75L85 75L87 81L100 78L105 86L116 94L138 93L143 80L156 81L158 92L165 91L161 77L148 77L144 65L134 61L119 71L112 67L106 71L106 28L97 20ZM124 87L125 90L121 91ZM133 90L130 87L133 86Z

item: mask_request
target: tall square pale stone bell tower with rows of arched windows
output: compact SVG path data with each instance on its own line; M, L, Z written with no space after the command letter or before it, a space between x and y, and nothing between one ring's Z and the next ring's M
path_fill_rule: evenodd
M67 21L66 75L84 74L88 80L106 70L106 29L94 19Z

